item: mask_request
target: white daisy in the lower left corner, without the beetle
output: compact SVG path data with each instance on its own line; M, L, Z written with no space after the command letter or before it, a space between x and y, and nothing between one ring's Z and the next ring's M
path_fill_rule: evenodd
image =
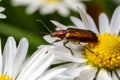
M28 41L22 38L18 47L13 37L9 37L2 54L0 43L0 80L50 80L65 68L48 69L54 54L50 46L41 46L30 58L25 59Z

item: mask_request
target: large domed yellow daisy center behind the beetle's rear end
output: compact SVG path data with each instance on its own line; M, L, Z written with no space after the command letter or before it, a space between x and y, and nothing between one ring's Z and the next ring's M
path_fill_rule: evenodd
M104 33L97 35L98 43L89 43L85 49L88 64L99 68L114 69L120 67L120 37L115 34Z

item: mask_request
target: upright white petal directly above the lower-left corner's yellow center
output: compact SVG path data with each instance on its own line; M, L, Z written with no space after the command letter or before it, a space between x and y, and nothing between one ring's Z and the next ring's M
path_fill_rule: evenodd
M3 51L4 74L11 75L13 61L16 56L16 42L13 37L9 37Z

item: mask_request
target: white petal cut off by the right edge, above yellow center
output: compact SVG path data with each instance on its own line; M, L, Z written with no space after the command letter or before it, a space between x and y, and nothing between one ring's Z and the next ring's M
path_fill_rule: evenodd
M110 32L119 34L120 31L120 6L116 8L110 22Z

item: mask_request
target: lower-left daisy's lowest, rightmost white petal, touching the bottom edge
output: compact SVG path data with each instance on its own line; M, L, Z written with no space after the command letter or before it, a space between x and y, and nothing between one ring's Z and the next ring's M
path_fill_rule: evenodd
M42 77L40 77L38 80L50 80L65 70L66 70L66 68L51 70L46 75L43 75Z

